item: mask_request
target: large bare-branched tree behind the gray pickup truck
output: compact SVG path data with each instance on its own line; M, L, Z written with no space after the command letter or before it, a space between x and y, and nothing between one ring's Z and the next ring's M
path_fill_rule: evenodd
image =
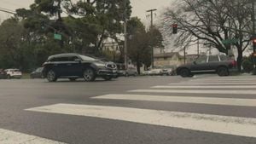
M251 0L182 0L177 9L164 13L164 30L177 24L177 46L194 44L198 39L228 54L231 45L238 52L241 71L242 53L247 49L252 33ZM170 32L171 33L171 32ZM233 43L224 43L232 41Z

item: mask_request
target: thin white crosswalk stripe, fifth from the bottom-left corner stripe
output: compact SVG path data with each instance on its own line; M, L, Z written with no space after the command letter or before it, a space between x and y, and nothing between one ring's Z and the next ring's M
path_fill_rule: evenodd
M157 85L154 89L256 89L256 85Z

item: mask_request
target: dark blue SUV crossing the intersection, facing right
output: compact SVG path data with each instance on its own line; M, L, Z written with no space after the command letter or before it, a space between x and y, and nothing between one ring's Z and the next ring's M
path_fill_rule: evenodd
M84 78L89 82L96 78L111 80L117 76L117 66L113 62L74 53L51 55L43 66L44 78L49 82L55 82L58 78L69 78L71 81Z

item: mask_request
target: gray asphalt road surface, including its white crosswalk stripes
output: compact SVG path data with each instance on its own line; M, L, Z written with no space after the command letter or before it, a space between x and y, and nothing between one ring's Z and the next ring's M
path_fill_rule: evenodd
M255 144L256 77L0 80L0 143Z

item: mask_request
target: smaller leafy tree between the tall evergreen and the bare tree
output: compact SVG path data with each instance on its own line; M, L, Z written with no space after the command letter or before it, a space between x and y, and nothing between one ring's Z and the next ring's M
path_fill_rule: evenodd
M128 56L137 63L137 72L140 73L140 66L151 65L152 48L162 48L162 36L156 27L151 27L148 32L145 26L137 17L128 21Z

